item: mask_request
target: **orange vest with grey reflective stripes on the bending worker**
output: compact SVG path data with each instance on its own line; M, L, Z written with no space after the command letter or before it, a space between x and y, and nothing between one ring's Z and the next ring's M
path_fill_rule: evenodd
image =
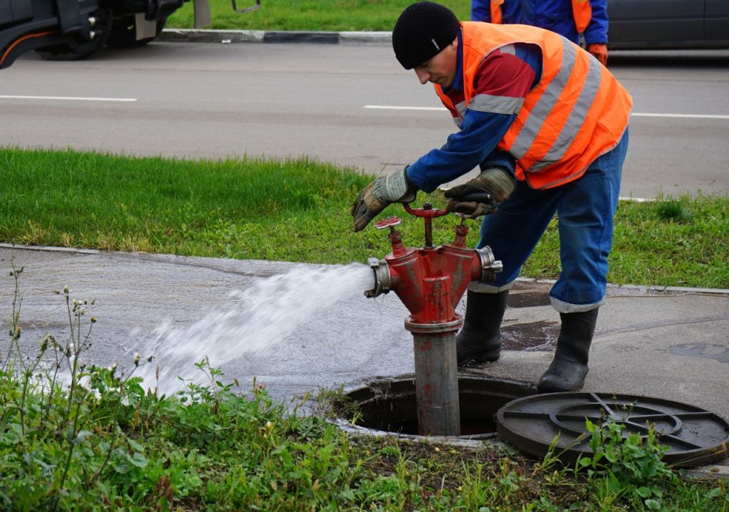
M435 91L460 120L468 106L504 101L475 95L478 66L494 50L518 42L542 49L542 77L523 103L507 112L516 119L497 147L516 160L516 177L536 189L579 178L599 156L612 150L628 127L633 99L596 58L554 32L526 25L461 23L465 100L454 105L440 85ZM521 98L505 98L505 100Z

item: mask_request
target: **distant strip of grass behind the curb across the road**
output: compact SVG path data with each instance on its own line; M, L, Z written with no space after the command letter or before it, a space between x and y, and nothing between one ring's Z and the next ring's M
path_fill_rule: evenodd
M206 28L268 31L391 31L410 0L261 0L260 9L234 12L230 0L209 0L211 23ZM470 1L440 2L460 19L470 18ZM252 7L255 0L236 0L236 7ZM192 28L192 1L167 21L168 28Z

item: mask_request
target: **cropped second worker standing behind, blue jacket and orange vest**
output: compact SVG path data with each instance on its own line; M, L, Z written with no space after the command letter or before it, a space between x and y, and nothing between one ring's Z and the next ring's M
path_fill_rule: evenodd
M580 44L607 66L607 0L472 0L471 20L521 23Z

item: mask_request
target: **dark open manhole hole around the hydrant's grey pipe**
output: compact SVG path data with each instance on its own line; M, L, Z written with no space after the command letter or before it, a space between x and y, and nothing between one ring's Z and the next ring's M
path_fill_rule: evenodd
M515 398L534 395L531 384L460 377L461 438L496 436L496 411ZM418 435L418 404L412 376L373 381L347 393L360 413L357 425L384 432Z

